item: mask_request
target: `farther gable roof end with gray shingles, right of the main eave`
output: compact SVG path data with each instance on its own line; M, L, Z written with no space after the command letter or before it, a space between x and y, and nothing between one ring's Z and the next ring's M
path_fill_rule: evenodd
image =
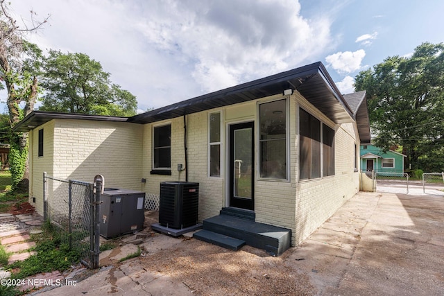
M348 105L352 108L354 114L353 119L355 119L359 138L361 139L361 144L368 144L371 141L370 134L370 121L368 119L368 107L367 107L367 97L366 91L354 92L352 94L345 94L343 96Z

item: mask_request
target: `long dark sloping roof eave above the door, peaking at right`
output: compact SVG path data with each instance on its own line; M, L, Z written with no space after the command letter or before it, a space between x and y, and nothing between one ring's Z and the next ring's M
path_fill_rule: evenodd
M152 123L172 119L185 114L282 94L285 89L289 88L298 90L302 96L335 123L352 121L350 107L343 100L341 93L321 62L138 114L131 117L129 121Z

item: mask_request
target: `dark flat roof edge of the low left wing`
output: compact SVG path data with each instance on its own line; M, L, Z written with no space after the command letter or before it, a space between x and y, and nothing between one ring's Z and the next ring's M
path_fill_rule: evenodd
M74 113L60 113L60 112L46 112L46 111L33 111L26 116L22 121L17 123L13 132L28 132L33 130L39 125L42 125L52 119L83 119L94 121L128 121L128 117L119 116L104 116L104 115L89 115L89 114L74 114Z

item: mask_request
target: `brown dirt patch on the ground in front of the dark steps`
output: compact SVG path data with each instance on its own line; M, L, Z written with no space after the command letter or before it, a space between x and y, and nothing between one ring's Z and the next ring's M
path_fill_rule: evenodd
M139 260L147 271L180 281L196 295L316 294L307 275L285 265L287 256L268 256L248 246L232 252L185 239Z

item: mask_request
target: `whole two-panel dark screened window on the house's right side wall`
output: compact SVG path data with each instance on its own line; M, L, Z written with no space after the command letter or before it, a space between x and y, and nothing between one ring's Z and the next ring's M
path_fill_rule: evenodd
M334 175L334 130L303 109L299 127L299 179Z

